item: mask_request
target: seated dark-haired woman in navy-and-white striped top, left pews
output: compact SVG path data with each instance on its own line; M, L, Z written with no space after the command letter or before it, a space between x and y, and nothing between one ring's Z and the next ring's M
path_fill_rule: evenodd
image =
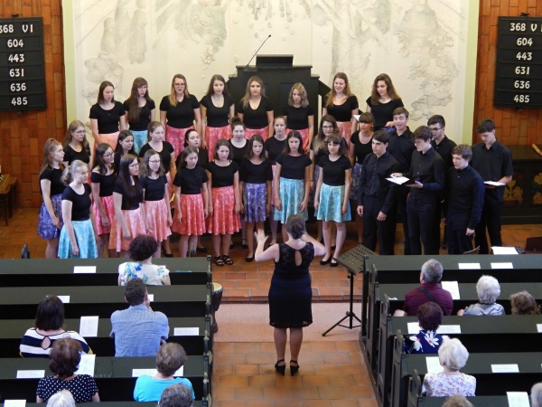
M35 327L28 329L19 346L23 357L49 357L52 345L61 338L70 337L81 345L83 354L91 354L89 345L75 331L64 329L64 304L56 296L47 296L38 305Z

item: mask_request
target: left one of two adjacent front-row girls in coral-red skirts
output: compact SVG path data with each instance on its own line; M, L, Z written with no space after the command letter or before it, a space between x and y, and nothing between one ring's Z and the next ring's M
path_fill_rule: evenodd
M207 172L198 166L198 152L194 147L186 147L180 157L173 180L176 216L172 230L181 234L179 255L186 257L190 247L191 257L194 257L198 239L205 232L205 218L209 215L209 178Z

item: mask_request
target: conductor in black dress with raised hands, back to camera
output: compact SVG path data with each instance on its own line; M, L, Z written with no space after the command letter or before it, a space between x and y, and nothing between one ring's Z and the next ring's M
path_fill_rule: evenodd
M269 325L275 327L276 372L285 375L285 350L287 329L290 328L290 374L299 370L297 363L303 343L303 328L313 323L311 302L311 276L309 266L314 256L323 256L322 243L309 236L300 215L291 215L286 220L288 240L273 244L264 251L267 240L265 232L256 235L256 261L275 260L275 271L269 288Z

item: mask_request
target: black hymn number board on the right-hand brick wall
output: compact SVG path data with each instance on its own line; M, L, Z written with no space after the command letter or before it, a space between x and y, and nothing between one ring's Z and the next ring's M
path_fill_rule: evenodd
M499 17L495 106L542 108L542 17Z

